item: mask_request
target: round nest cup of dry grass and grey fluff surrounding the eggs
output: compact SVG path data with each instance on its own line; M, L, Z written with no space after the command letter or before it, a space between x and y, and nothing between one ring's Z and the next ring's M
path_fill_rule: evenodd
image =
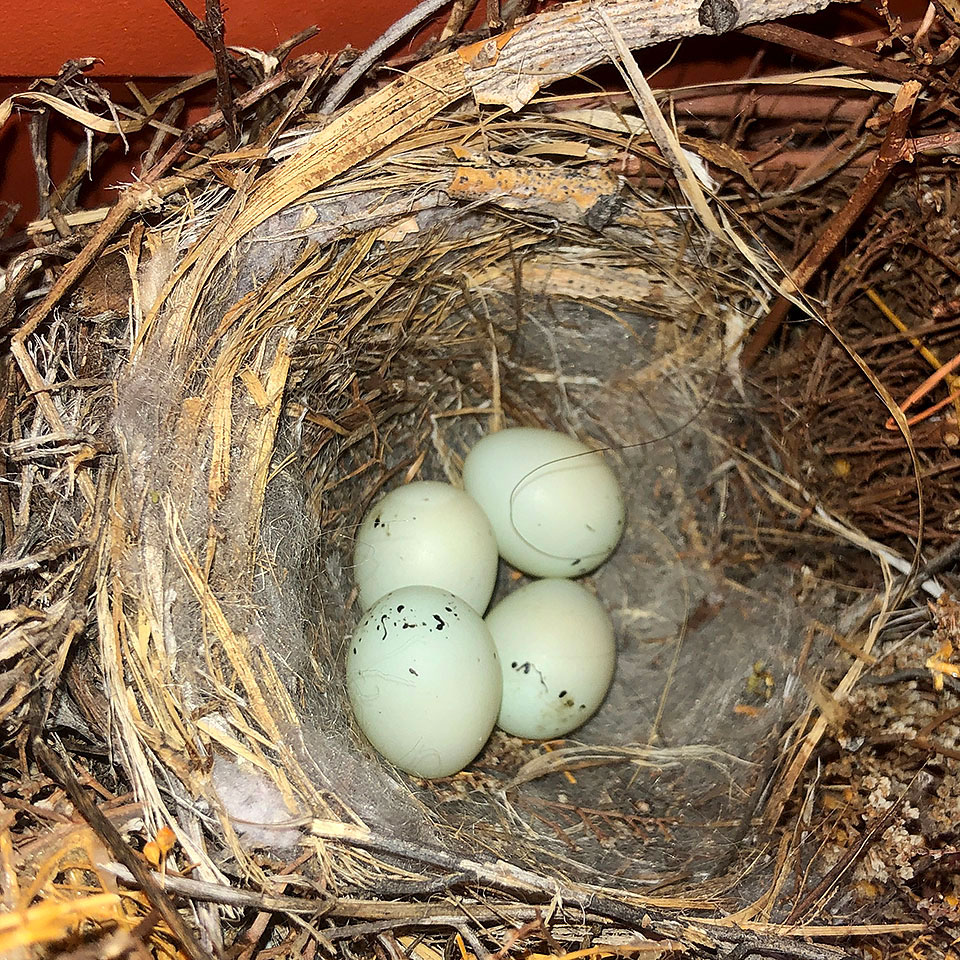
M717 565L724 343L763 280L669 182L558 162L573 137L631 133L447 116L253 229L256 190L244 207L210 187L137 236L128 353L109 358L100 663L148 821L212 871L211 837L251 869L252 849L304 841L336 888L370 889L410 879L399 843L630 896L729 852L715 824L750 792L782 686L756 716L734 707L799 633L785 571ZM628 528L585 581L617 676L573 739L495 733L461 775L417 781L347 703L353 534L405 479L457 483L506 425L571 433L619 477ZM502 569L498 595L514 585ZM344 830L380 858L327 842Z

